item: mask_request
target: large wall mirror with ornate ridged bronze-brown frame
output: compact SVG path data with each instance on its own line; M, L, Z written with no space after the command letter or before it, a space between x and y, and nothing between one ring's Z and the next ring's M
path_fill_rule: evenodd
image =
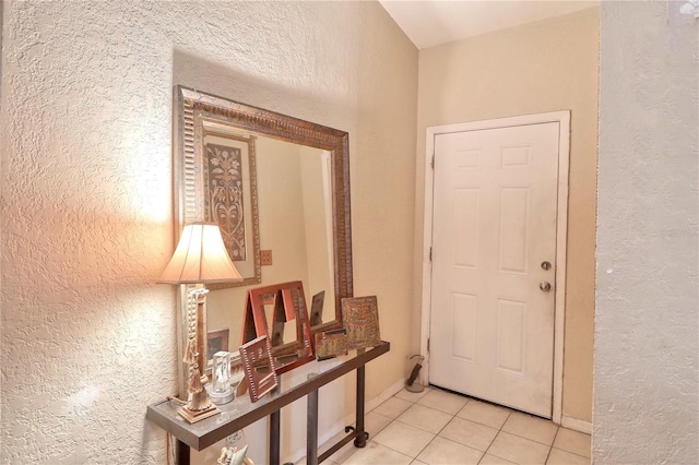
M247 176L242 186L249 187L242 191L242 202L235 195L218 196L224 201L213 208L217 218L225 213L227 227L234 230L230 218L238 218L234 210L241 205L242 217L249 219L246 237L250 239L245 248L247 267L233 258L246 282L239 287L209 286L208 341L237 351L242 341L246 293L257 283L300 281L307 293L311 334L341 327L340 300L352 297L347 133L181 86L175 92L177 230L209 219L200 218L202 212L212 212L202 208L205 186L198 172L208 160L206 152L222 158L223 152L236 150L240 170ZM235 176L226 178L232 180ZM259 282L254 281L258 264ZM187 337L192 331L192 305L186 295L181 302ZM273 306L265 305L270 318ZM285 323L277 334L282 346L299 341L296 330L286 326L293 325ZM212 341L224 334L226 342ZM209 359L212 355L210 350Z

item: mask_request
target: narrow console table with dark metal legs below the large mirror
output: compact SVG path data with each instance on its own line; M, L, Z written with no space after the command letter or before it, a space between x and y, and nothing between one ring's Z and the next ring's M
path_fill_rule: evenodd
M368 350L356 350L356 354L347 356L340 365L330 370L311 374L308 380L292 383L284 389L276 389L260 401L251 403L245 395L235 401L218 406L221 414L203 419L196 424L189 424L177 415L179 405L170 401L163 401L149 405L145 417L177 438L177 460L179 465L189 465L190 448L201 451L246 426L270 417L270 464L280 464L280 409L285 405L307 395L307 444L306 463L316 465L330 457L347 442L354 440L357 448L366 445L369 434L364 430L364 386L365 365L390 350L388 342ZM344 357L343 357L344 358ZM318 455L318 390L329 382L357 371L357 398L356 398L356 426L346 427L347 436L337 441L328 451ZM282 374L283 377L288 373ZM281 384L284 384L282 382Z

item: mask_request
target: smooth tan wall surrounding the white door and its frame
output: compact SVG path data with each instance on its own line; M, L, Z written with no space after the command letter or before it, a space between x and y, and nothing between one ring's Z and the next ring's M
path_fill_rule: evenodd
M564 358L565 416L592 420L599 9L419 52L415 282L422 271L425 131L439 124L571 110ZM413 347L419 347L419 286Z

